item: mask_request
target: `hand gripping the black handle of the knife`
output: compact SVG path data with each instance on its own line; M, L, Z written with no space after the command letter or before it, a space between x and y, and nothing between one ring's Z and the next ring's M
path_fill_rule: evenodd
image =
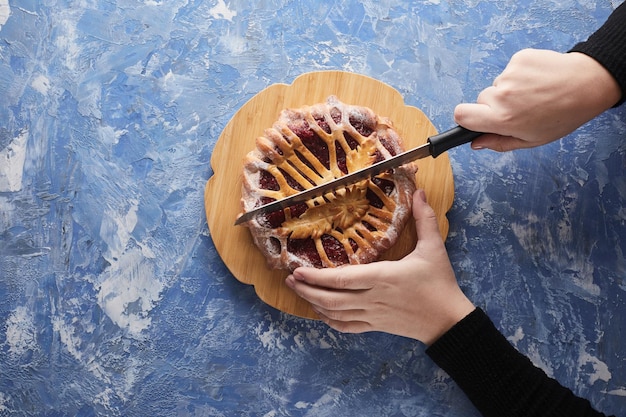
M614 106L622 92L596 60L578 52L525 49L474 104L459 104L456 123L490 132L472 148L509 151L543 145Z

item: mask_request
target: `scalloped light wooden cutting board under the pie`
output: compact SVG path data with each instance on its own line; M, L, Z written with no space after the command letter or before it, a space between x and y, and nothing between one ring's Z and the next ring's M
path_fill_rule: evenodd
M252 241L248 228L234 226L241 210L241 175L244 156L255 146L255 139L271 127L285 108L298 108L326 101L335 95L347 104L371 108L391 119L406 149L421 145L436 130L415 107L404 104L400 93L375 79L342 71L306 73L293 84L274 84L248 101L230 120L220 135L213 154L213 176L206 184L204 203L209 232L215 247L239 281L254 285L267 304L299 317L316 318L310 305L285 285L286 271L270 270ZM448 234L446 213L454 199L454 181L447 153L436 159L418 161L416 184L426 191L428 202L438 216L439 229ZM399 259L415 247L415 225L409 221L398 242L383 259Z

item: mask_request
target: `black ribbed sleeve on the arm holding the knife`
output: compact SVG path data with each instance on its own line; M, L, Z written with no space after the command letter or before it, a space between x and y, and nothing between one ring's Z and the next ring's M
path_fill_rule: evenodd
M570 52L582 52L598 61L617 80L626 100L626 3L622 3L608 20L585 42L575 45Z

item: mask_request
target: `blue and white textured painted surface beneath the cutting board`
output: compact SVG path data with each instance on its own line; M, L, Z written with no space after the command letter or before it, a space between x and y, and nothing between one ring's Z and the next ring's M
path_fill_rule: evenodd
M236 281L204 217L211 151L254 94L314 70L380 79L446 129L515 51L565 51L618 3L0 0L0 415L478 415L420 343ZM451 151L463 288L608 413L626 410L625 112Z

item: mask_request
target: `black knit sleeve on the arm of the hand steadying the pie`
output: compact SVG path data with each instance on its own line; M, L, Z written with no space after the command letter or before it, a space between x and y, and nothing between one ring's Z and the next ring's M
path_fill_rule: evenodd
M604 416L534 366L479 308L426 353L485 417Z

